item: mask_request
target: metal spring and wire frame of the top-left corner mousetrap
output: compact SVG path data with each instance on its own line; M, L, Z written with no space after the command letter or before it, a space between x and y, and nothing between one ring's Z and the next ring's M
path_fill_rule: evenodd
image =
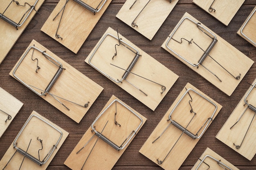
M29 9L24 13L24 15L22 16L22 18L20 19L20 21L17 23L11 19L9 19L7 16L4 15L5 11L9 8L9 6L11 5L12 2L15 2L18 6L21 7L25 7L26 4L29 5ZM36 0L36 2L34 3L34 5L30 5L27 2L25 2L24 5L20 5L20 3L18 1L15 0L11 0L10 4L7 6L7 8L4 10L3 13L0 13L0 19L4 20L5 22L7 22L8 24L10 24L11 26L14 26L16 29L18 29L18 27L22 26L24 24L24 22L27 20L28 16L30 15L30 13L35 10L35 5L38 2L38 0ZM37 11L36 11L37 12ZM27 14L28 13L28 14ZM27 15L26 15L27 14ZM25 16L26 15L26 16ZM24 20L23 20L24 18ZM22 21L23 20L23 21Z

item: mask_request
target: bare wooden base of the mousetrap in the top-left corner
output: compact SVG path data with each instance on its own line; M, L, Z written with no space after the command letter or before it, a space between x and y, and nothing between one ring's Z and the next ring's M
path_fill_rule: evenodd
M3 13L4 10L8 7L9 3L12 0L2 0L0 5L0 13ZM33 5L36 0L18 0L20 5L24 5L25 2L27 2L30 5ZM35 10L38 11L38 9L41 7L45 0L38 0L37 4L35 5ZM15 2L12 2L12 4L9 6L9 8L4 12L4 15L8 17L9 19L13 20L14 22L18 23L20 19L22 18L22 15L29 9L28 5L25 5L25 7L18 6ZM0 64L6 57L6 55L9 53L13 45L16 43L20 35L23 33L23 31L26 29L29 22L32 20L34 15L36 14L36 11L33 10L30 15L28 16L25 23L18 27L18 30L14 27L5 22L4 20L0 19ZM15 12L13 12L15 11Z

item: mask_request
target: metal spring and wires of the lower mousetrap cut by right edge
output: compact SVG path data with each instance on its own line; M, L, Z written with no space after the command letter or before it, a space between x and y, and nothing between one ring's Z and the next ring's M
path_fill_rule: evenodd
M252 85L252 84L251 84L251 85ZM255 88L255 85L256 85L256 83L254 83L254 85L252 85L252 88L248 91L247 95L245 96L245 99L244 99L245 104L244 104L244 106L247 105L247 107L246 107L245 110L243 111L242 115L240 115L240 117L238 118L238 120L236 121L236 123L235 123L233 126L230 127L230 130L231 130L231 128L233 128L233 127L240 121L240 119L243 117L244 113L246 112L246 110L247 110L248 108L249 108L249 110L252 110L252 111L254 112L254 115L253 115L253 117L252 117L252 120L251 120L251 122L250 122L250 124L249 124L249 126L248 126L248 128L247 128L247 130L246 130L246 132L245 132L245 135L244 135L244 137L243 137L243 139L242 139L242 141L241 141L241 144L240 144L240 145L237 145L237 144L233 143L234 146L236 146L236 149L239 149L239 148L242 146L243 141L245 140L245 136L247 135L247 132L248 132L250 126L252 125L252 121L254 120L254 117L255 117L255 115L256 115L256 107L253 106L253 105L251 105L251 104L248 104L248 100L247 100L247 97L248 97L249 94L251 93L252 89Z

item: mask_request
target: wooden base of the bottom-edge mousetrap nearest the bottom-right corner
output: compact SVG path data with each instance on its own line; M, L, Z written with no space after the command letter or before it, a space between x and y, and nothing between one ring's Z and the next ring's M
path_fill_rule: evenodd
M209 155L209 156L217 159L218 161L220 161L221 163L225 164L226 166L228 166L232 170L239 170L234 165L232 165L229 161L227 161L226 159L222 158L220 155L218 155L216 152L214 152L210 148L207 148L204 151L204 153L200 157L200 160L204 159L204 157L206 155ZM193 168L191 170L195 170L198 167L199 163L201 162L200 160L198 159L198 161L195 163L195 165L193 166ZM210 169L212 169L212 170L223 170L223 168L220 165L218 165L217 161L215 161L215 160L213 160L213 159L211 159L209 157L206 157L204 159L204 162L198 167L198 170L206 170L207 168L209 168L209 166L207 166L207 165L209 165ZM229 170L229 169L227 169L227 170Z

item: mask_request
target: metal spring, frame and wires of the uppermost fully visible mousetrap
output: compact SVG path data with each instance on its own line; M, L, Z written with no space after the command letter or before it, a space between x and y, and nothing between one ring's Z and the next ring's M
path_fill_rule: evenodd
M191 22L193 22L194 24L196 24L196 26L198 27L198 29L200 29L200 31L202 31L204 34L206 34L209 38L212 39L212 42L211 44L208 46L208 48L204 51L198 44L196 44L195 42L193 42L196 46L198 46L202 51L204 51L203 55L200 57L200 59L198 60L198 63L197 64L193 64L191 62L189 62L188 60L186 60L184 57L182 57L181 55L179 55L177 52L175 52L173 49L171 49L169 46L168 46L168 43L169 41L172 39L172 40L175 40L173 38L173 35L174 33L177 31L177 29L179 28L179 26L182 24L182 22L184 20L190 20ZM181 38L180 39L181 42L175 40L175 42L178 42L178 43L182 43L182 40L186 40L185 38ZM189 40L186 40L187 42L189 42L189 44L192 44L193 39L191 39L190 41ZM215 74L213 73L211 70L209 70L206 66L204 66L202 63L204 62L204 60L206 59L207 56L211 57L209 55L209 53L211 52L211 50L213 49L213 47L215 46L215 44L218 42L217 38L216 38L216 35L214 35L213 33L211 33L209 30L207 30L206 28L204 28L200 23L198 22L195 22L194 20L192 20L191 18L189 17L185 17L182 19L182 21L177 25L177 27L174 29L173 33L171 34L171 36L169 36L169 39L167 40L166 42L166 47L171 50L173 53L175 53L178 57L180 57L182 60L184 60L185 62L187 62L188 64L190 64L191 66L194 66L194 67L197 67L199 68L199 64L201 66L203 66L207 71L209 71L212 75L214 75L220 82L222 82L222 80ZM213 57L211 57L211 59L213 59ZM234 77L235 79L240 79L240 76L241 74L239 73L238 76L234 76L233 74L231 74L226 68L224 68L219 62L217 62L216 60L213 59L213 61L215 61L218 65L220 65L227 73L229 73L232 77Z

